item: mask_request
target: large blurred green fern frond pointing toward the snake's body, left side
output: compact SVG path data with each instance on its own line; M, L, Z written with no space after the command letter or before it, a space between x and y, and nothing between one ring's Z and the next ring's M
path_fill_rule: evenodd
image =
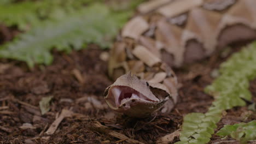
M0 57L25 61L30 67L35 63L50 64L50 50L60 51L82 48L84 43L107 47L118 29L123 26L129 13L111 13L103 4L93 4L65 19L45 22L41 27L21 34L13 42L0 47Z

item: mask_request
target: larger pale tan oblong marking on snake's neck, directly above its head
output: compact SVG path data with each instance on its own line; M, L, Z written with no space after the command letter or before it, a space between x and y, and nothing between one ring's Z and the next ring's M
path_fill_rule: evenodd
M149 67L152 67L156 63L161 62L160 58L156 57L152 52L150 52L146 47L142 45L137 45L132 53L141 59L142 62L146 63Z

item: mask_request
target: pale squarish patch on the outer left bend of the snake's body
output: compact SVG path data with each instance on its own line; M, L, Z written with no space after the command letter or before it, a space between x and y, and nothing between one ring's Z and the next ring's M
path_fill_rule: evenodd
M122 36L138 40L139 36L148 28L148 23L142 17L137 16L126 23L122 31Z

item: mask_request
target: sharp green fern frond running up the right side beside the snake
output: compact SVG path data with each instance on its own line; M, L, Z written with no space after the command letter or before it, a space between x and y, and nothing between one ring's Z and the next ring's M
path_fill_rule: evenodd
M205 88L205 92L215 98L208 111L190 113L184 117L181 143L207 143L217 128L216 123L222 118L224 110L235 106L245 106L243 99L251 100L249 81L256 78L256 42L234 53L228 61L220 65L221 75Z

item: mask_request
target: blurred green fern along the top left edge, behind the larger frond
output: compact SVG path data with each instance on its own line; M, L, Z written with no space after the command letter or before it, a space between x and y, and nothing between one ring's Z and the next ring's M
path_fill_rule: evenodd
M99 1L99 0L97 0ZM0 2L0 21L7 26L18 25L21 30L34 27L46 19L61 19L67 13L83 8L92 0L41 0L10 3ZM95 1L94 1L95 2Z

